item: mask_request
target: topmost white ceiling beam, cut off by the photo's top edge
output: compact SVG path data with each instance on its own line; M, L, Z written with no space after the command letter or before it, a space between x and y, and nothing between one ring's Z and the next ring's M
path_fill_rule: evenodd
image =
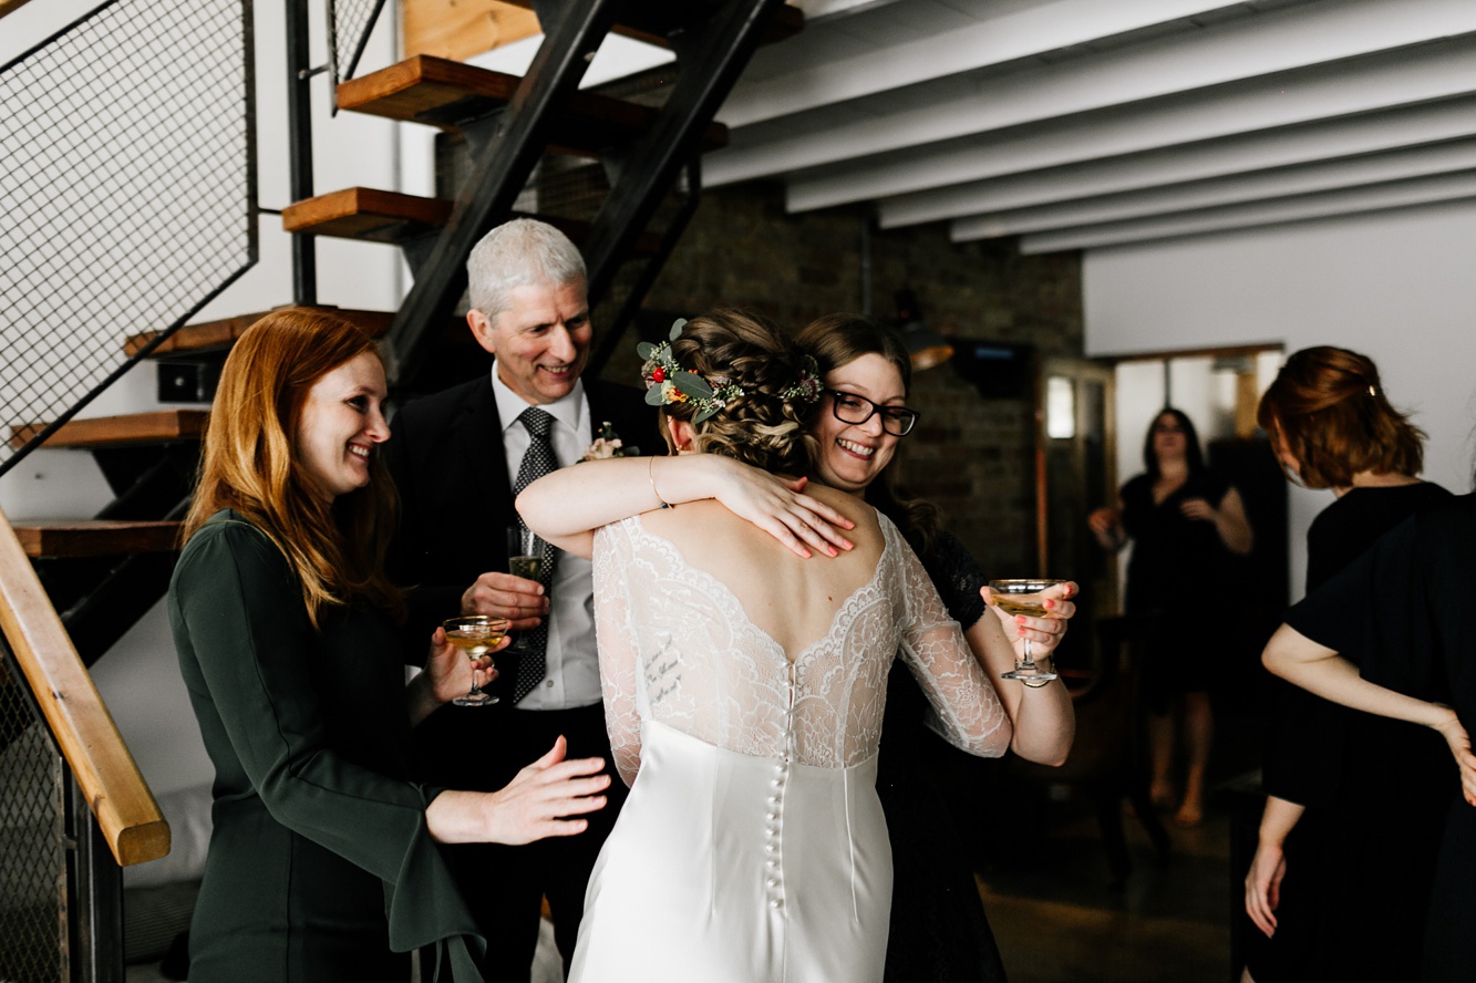
M843 1L830 0L830 4ZM806 16L810 16L810 6L827 4L806 4ZM729 127L744 127L1230 6L1240 6L1240 0L1057 0L968 30L897 44L889 47L884 58L862 55L821 65L810 62L784 75L739 81L717 118Z

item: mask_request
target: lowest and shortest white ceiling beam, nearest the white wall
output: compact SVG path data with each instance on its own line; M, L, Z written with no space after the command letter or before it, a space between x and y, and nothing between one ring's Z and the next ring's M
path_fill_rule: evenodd
M1396 184L1356 187L1253 205L1231 205L1179 215L1157 215L1134 221L1114 221L1080 229L1060 229L1020 238L1020 252L1060 252L1063 249L1094 249L1150 239L1228 232L1289 221L1334 218L1370 211L1410 208L1446 201L1476 198L1476 171L1421 177Z

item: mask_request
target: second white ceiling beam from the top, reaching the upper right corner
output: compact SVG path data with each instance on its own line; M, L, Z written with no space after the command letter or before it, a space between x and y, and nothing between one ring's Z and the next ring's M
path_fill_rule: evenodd
M964 97L940 100L928 86L903 90L906 96L893 92L884 99L893 106L887 112L756 145L744 145L738 130L728 149L706 158L704 182L769 177L1473 31L1472 0L1322 0L1001 75Z

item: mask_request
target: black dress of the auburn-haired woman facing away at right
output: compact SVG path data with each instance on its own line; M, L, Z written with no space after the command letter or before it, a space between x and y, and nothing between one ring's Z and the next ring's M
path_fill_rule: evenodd
M1433 483L1349 490L1308 530L1308 593L1408 517L1451 499ZM1247 933L1252 976L1256 983L1402 979L1420 952L1424 906L1411 899L1430 893L1445 744L1281 680L1275 700L1265 791L1306 812L1284 846L1277 934ZM1405 843L1410 834L1414 844ZM1395 841L1398 856L1387 846L1382 860L1368 856L1371 844Z

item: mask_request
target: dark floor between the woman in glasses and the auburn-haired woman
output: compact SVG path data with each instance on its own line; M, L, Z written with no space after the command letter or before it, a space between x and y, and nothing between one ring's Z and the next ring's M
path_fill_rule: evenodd
M1044 784L1049 772L1021 782L1005 768L987 791L992 806L955 803L964 807L955 815L976 816L1015 803L1015 827L995 822L976 840L989 849L973 858L1010 983L1235 983L1231 920L1243 911L1244 874L1232 875L1231 829L1249 829L1253 847L1263 732L1259 716L1216 716L1204 822L1184 829L1163 816L1172 849L1160 860L1125 815L1134 871L1116 890L1092 804Z

